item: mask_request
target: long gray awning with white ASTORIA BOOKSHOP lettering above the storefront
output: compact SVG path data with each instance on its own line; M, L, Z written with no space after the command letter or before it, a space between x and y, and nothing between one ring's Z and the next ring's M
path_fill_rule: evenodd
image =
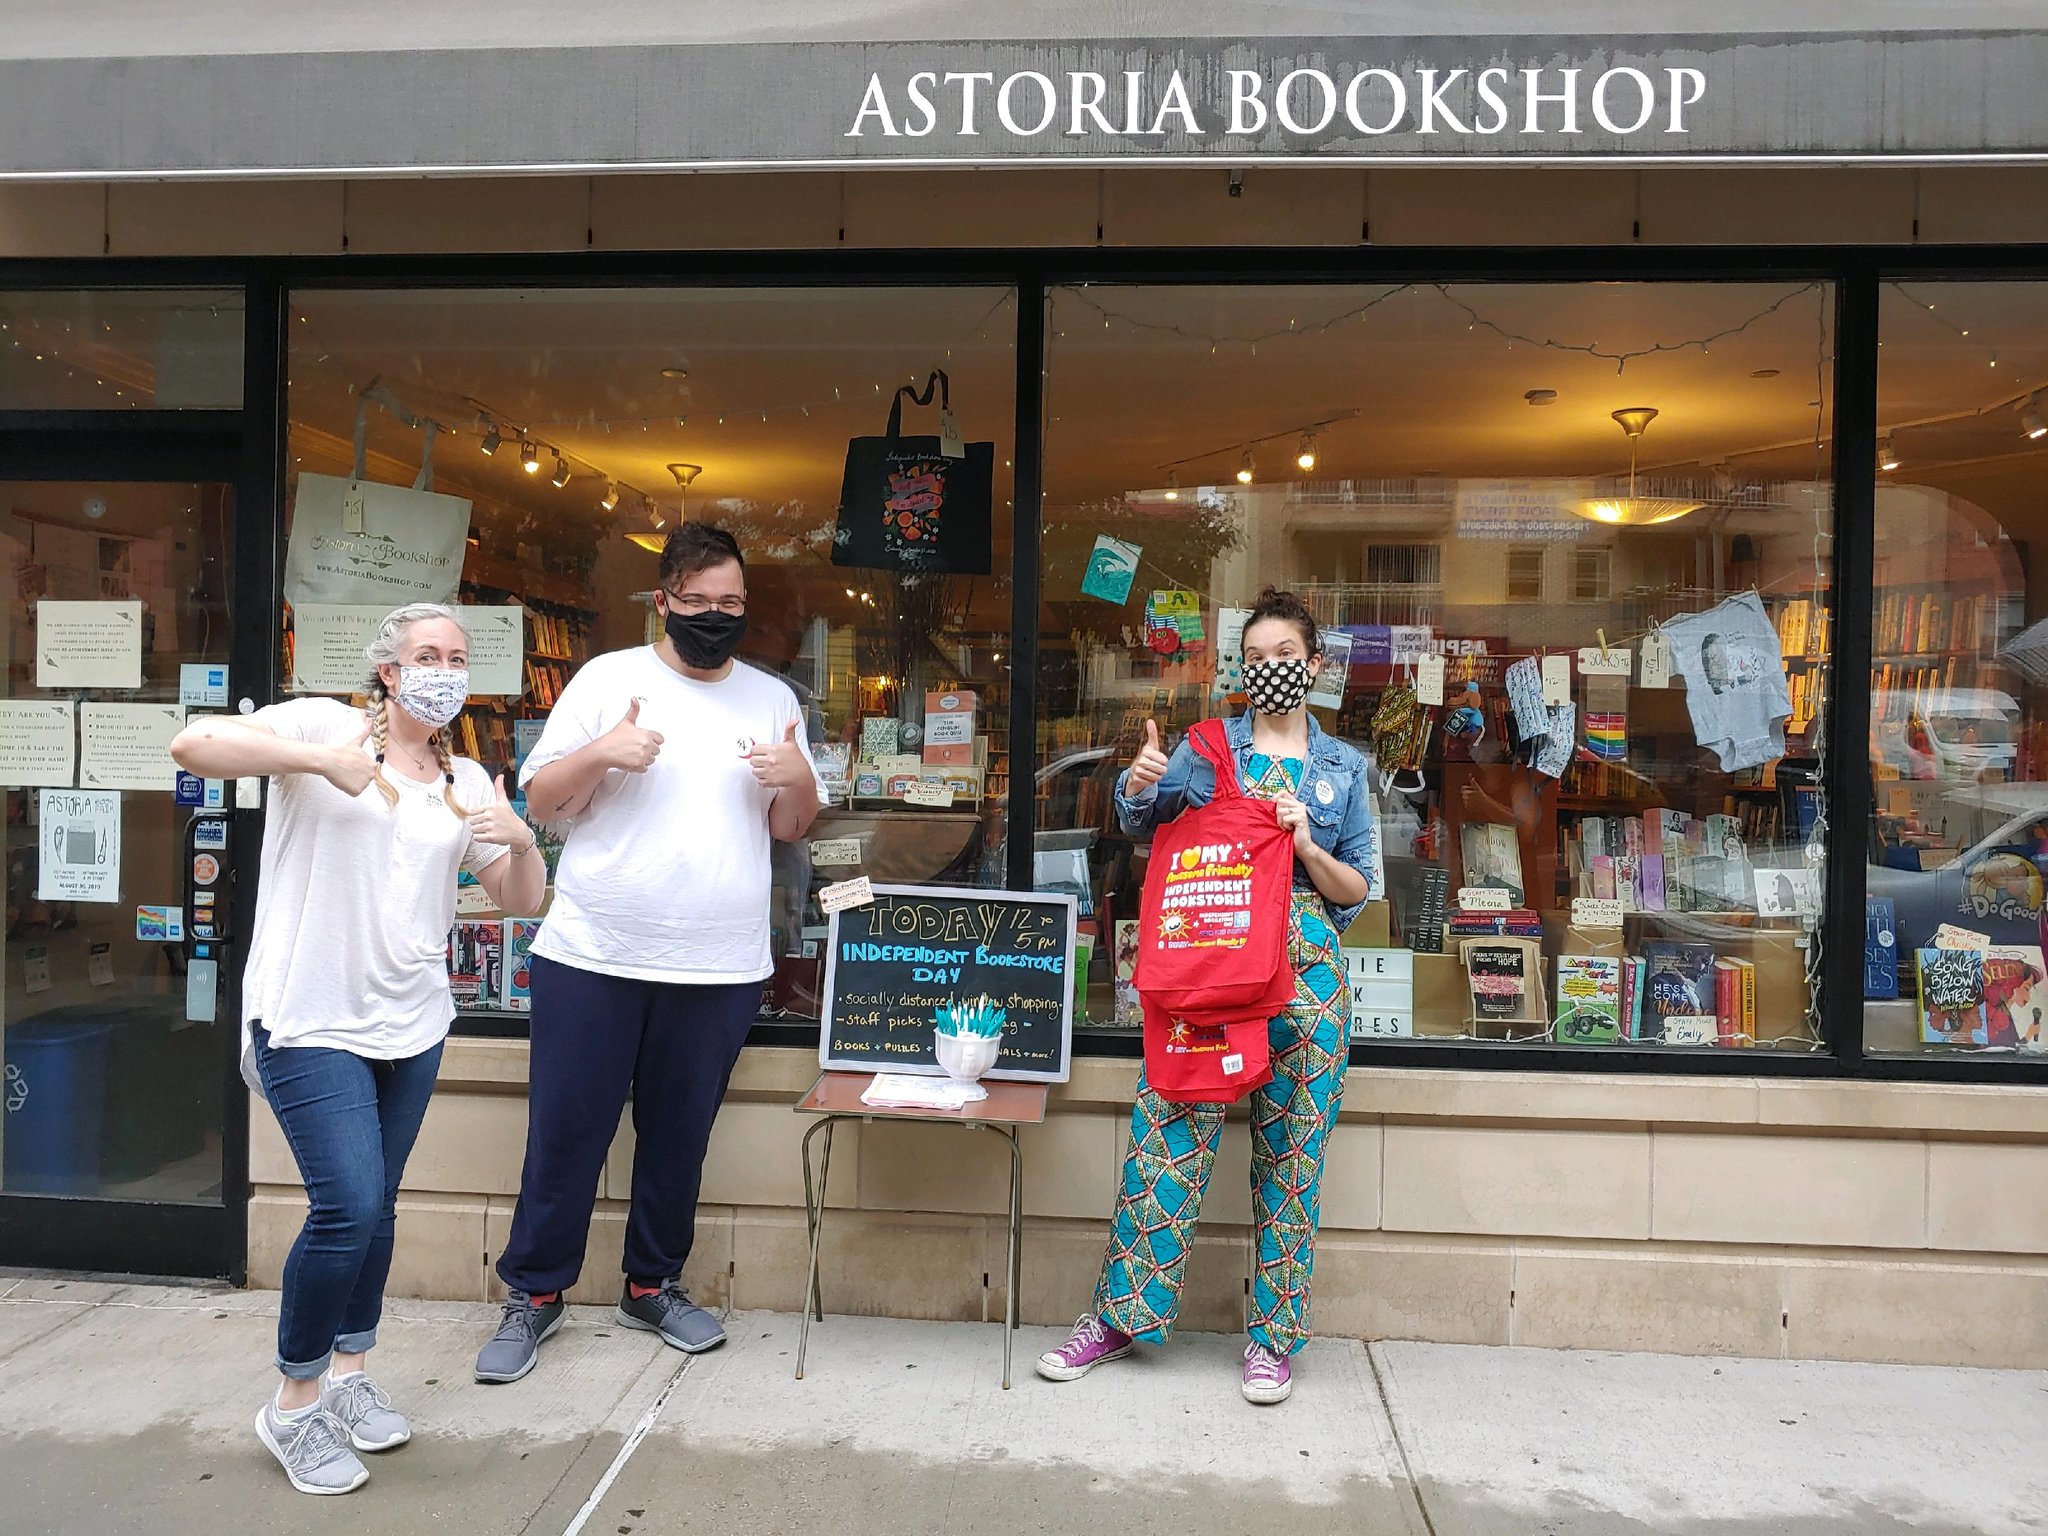
M2042 0L1722 0L1716 35L1675 0L8 12L4 178L2048 162Z

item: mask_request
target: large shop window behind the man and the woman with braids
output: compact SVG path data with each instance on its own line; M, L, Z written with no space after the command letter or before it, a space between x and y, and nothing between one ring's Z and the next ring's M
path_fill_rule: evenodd
M815 1018L819 887L1001 885L1014 346L1010 289L301 293L287 686L358 690L365 623L453 598L510 637L473 657L457 745L516 766L582 662L657 637L668 528L725 526L741 657L797 690L834 795L776 850L766 1006ZM967 465L936 512L915 453L881 453L897 389L934 375L899 449ZM891 473L891 518L840 516L844 485ZM520 1012L528 928L481 891L463 911L461 1004Z

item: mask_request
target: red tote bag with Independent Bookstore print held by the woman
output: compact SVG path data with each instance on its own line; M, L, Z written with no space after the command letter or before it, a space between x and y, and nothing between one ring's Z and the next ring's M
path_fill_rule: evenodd
M1243 793L1223 721L1188 741L1217 770L1217 793L1153 836L1133 983L1145 1081L1180 1104L1229 1104L1272 1079L1268 1020L1294 995L1294 840Z

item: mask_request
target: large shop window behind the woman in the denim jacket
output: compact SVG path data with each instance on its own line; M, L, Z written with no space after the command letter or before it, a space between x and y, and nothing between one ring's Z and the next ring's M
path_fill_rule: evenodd
M1092 1022L1137 1018L1116 774L1243 707L1274 586L1372 762L1354 1038L1819 1049L1831 317L1825 283L1059 289L1036 858Z

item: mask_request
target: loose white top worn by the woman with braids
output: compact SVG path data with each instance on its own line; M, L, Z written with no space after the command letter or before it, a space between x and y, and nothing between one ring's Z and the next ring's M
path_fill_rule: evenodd
M338 745L362 729L362 711L338 698L297 698L250 719L287 741ZM371 756L369 743L362 754ZM455 1018L449 995L449 928L455 877L510 854L475 842L449 809L444 782L385 772L348 797L319 774L279 774L262 829L256 932L242 973L244 1059L248 1026L274 1047L330 1047L373 1061L432 1049ZM489 805L489 774L455 760L455 797Z

